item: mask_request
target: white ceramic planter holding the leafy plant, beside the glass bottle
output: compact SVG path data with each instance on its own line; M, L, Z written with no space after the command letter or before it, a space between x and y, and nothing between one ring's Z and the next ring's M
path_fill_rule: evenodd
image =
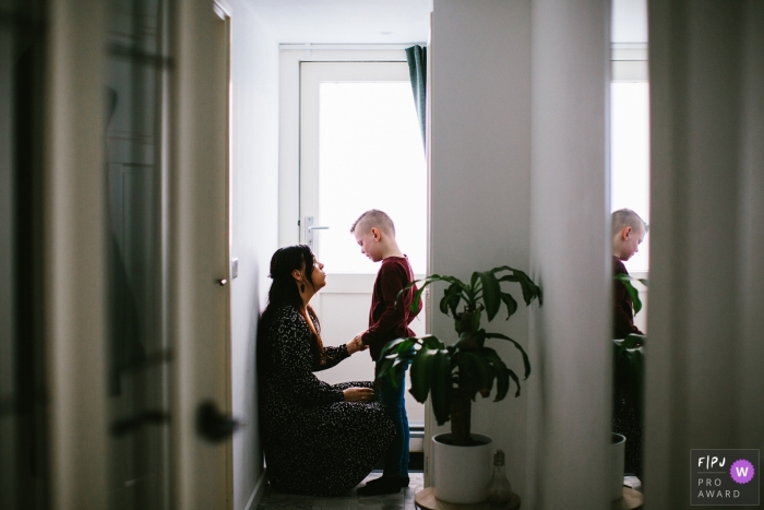
M435 498L450 503L477 503L488 498L488 483L493 474L491 438L473 434L480 444L455 447L442 442L451 434L432 438Z

